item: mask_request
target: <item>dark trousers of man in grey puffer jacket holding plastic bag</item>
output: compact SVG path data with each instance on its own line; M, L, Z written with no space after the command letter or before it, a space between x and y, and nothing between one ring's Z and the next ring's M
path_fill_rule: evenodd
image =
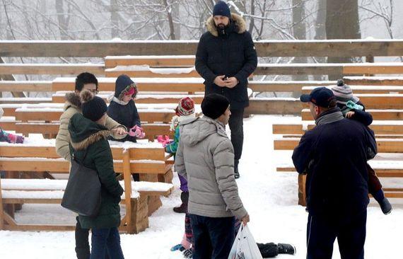
M235 239L235 217L211 218L189 214L193 259L228 259Z

